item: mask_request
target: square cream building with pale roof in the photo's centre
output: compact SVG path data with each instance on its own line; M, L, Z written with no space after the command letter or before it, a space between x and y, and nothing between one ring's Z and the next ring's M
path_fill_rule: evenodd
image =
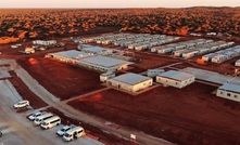
M152 78L128 72L108 80L106 84L134 93L151 87L152 82Z

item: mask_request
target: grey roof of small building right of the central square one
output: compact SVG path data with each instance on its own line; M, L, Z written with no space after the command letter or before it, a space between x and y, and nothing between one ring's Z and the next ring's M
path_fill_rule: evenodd
M178 81L184 81L184 80L194 77L194 75L182 72L182 71L176 71L176 70L165 71L165 72L162 72L157 76L178 80Z

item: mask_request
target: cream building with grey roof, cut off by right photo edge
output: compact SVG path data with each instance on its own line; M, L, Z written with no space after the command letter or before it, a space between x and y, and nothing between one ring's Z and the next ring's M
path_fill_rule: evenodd
M240 102L240 85L232 83L224 83L217 89L216 96Z

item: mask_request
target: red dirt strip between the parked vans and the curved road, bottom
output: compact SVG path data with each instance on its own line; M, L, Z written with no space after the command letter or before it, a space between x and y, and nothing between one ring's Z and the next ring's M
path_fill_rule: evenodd
M115 136L113 134L104 133L102 130L100 130L93 126L90 126L85 122L80 122L79 120L72 119L55 108L51 107L51 108L48 108L46 111L51 111L51 113L60 116L63 124L75 124L75 126L83 127L85 129L85 131L87 132L87 134L90 134L91 136L93 136L93 139L96 139L106 145L136 145L131 142L119 139L118 136Z

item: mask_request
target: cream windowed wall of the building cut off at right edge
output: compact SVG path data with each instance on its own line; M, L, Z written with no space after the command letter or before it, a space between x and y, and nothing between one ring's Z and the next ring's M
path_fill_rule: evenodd
M240 93L229 92L227 90L217 90L217 96L224 97L227 100L240 102Z

